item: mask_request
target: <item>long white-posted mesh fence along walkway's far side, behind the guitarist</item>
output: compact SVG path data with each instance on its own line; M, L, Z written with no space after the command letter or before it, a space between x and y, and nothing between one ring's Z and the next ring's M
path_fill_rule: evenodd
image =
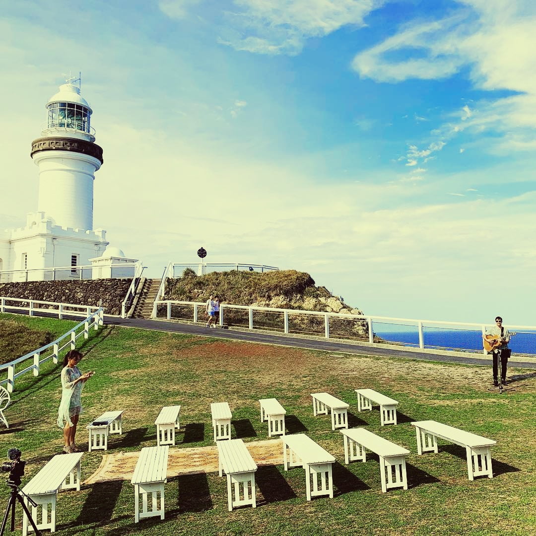
M155 301L153 318L200 322L206 304L176 300ZM199 309L201 308L201 309ZM326 339L348 339L368 344L392 344L423 350L482 353L486 324L350 315L337 312L277 309L220 304L220 325L302 334ZM509 347L517 355L536 355L536 326L508 326L516 336Z

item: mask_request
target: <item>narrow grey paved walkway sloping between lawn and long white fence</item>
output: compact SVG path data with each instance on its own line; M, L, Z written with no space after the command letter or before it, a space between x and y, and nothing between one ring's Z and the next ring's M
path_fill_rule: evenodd
M304 337L287 337L279 334L259 333L255 331L239 331L230 329L209 329L204 325L181 324L162 320L149 320L145 318L117 318L105 315L105 325L113 324L125 327L138 327L146 330L167 331L172 333L189 333L203 337L217 339L242 340L249 343L275 344L293 346L297 348L310 348L328 352L344 352L349 354L378 355L389 358L419 359L422 361L441 361L444 363L466 363L473 365L491 365L490 359L472 358L463 355L443 355L423 353L411 350L399 350L380 346L368 346L352 342L339 342L336 340L318 340ZM475 354L478 355L478 354ZM522 359L522 358L520 358ZM511 361L512 367L536 369L536 362Z

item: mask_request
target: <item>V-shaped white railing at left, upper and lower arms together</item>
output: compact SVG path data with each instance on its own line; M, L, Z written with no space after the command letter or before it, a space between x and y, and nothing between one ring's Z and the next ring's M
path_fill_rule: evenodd
M4 307L4 300L5 298L2 298L2 312L4 311L3 307ZM8 298L8 300L13 300L13 298ZM19 300L19 301L24 301L24 300ZM26 300L28 301L28 300ZM35 300L32 300L32 302L35 303ZM41 303L48 303L50 304L51 302L41 302ZM72 311L65 311L64 308L65 307L80 307L80 308L85 308L85 306L73 306L69 303L56 303L56 305L58 306L57 310L58 310L58 317L59 318L62 318L62 315L64 314L71 314L71 315L75 315L77 314L76 312L72 312ZM12 307L10 307L10 309L13 309ZM23 307L17 307L17 309L24 309ZM87 309L90 309L89 307ZM76 348L76 340L79 338L79 337L84 337L84 339L87 339L89 337L89 334L90 334L90 329L92 327L94 327L95 331L99 329L99 326L102 326L104 324L104 310L102 309L102 307L99 307L99 308L95 308L95 307L92 307L91 309L96 309L94 312L92 312L91 314L88 314L88 316L83 320L81 321L79 324L77 324L75 327L73 327L72 329L70 329L68 332L64 333L61 337L57 338L55 341L45 345L45 346L42 346L41 348L38 348L32 352L29 352L27 353L26 355L23 355L21 356L20 358L18 359L15 359L13 361L10 361L9 363L6 363L4 365L1 365L0 366L0 371L2 370L6 370L7 371L7 374L8 374L8 377L6 379L4 379L3 381L0 381L0 385L4 385L6 384L6 389L9 391L9 392L13 392L13 389L14 389L14 385L15 385L15 380L19 377L19 376L22 376L23 374L26 374L28 373L29 371L33 370L33 375L34 376L39 376L39 367L41 365L41 363L43 363L44 361L47 361L49 360L50 358L52 358L52 360L54 361L54 363L57 363L58 362L58 355L59 353L64 350L65 348L69 347L70 350L73 350ZM26 308L26 310L28 311L28 313L30 315L32 315L32 308L31 306L29 308ZM33 309L33 311L36 311L38 309ZM48 312L50 312L50 309L46 309ZM80 312L78 312L78 315L80 315ZM67 339L67 342L63 345L61 345L62 341ZM52 353L45 356L44 358L41 358L41 355L45 352L47 352L50 348L52 348ZM16 369L16 366L19 364L19 363L22 363L26 360L31 360L32 361L32 364L23 368L22 370L18 370L18 371L15 371Z

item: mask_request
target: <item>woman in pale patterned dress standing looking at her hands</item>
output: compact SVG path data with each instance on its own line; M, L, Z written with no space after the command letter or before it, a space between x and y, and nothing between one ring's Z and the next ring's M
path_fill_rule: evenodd
M82 389L88 378L94 373L82 374L77 364L81 361L82 354L78 350L70 350L63 358L62 378L62 401L58 410L58 426L63 428L65 446L63 451L79 452L75 443L78 416L83 412L81 404ZM64 425L65 421L65 425Z

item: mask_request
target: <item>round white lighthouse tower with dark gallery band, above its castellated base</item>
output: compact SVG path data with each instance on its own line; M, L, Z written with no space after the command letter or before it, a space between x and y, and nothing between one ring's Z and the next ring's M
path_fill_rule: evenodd
M39 167L38 212L58 225L87 230L93 229L93 182L102 148L95 143L93 110L72 81L48 100L46 124L32 142L31 156Z

